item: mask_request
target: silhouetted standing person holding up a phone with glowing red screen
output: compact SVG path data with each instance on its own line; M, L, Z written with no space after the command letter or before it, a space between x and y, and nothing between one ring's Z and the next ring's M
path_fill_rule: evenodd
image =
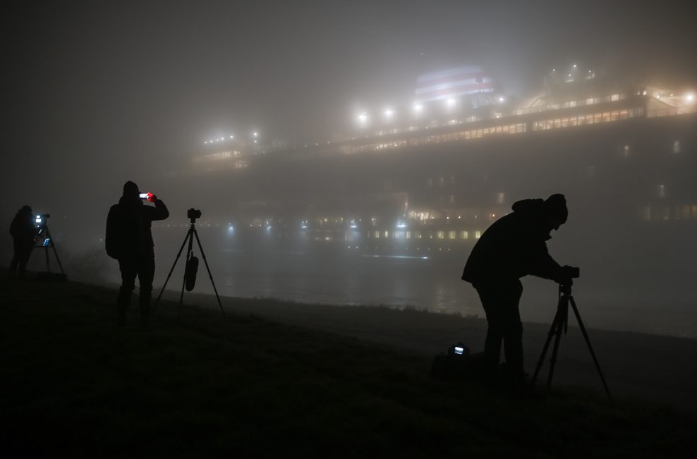
M119 325L126 324L126 310L135 290L135 278L140 283L140 322L147 325L150 319L150 299L154 279L154 243L151 223L169 217L164 202L152 195L154 207L145 205L140 199L138 185L130 180L123 185L123 195L119 204L109 209L107 216L107 235L105 240L107 255L119 260L121 288L116 300L119 312Z

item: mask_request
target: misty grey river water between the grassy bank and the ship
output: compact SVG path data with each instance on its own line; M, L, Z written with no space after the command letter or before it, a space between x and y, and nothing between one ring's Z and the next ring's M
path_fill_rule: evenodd
M220 295L484 314L476 291L460 279L467 247L445 254L392 255L364 253L348 246L317 250L215 243L208 249L205 240L202 243ZM194 247L198 255L200 251ZM158 280L159 285L164 283L174 255L159 257L156 285ZM202 261L196 291L212 293ZM181 289L183 260L178 267L168 285L174 290ZM636 267L636 271L642 269ZM686 282L674 279L671 273L650 276L653 282L637 282L634 271L621 271L609 274L600 267L593 271L582 268L574 298L586 327L697 338L697 302ZM528 276L523 278L523 286L523 321L550 323L556 312L557 285ZM571 325L575 322L570 320Z

